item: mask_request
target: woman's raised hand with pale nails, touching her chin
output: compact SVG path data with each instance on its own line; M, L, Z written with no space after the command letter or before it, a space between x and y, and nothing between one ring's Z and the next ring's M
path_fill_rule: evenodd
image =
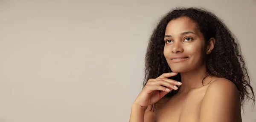
M177 90L176 85L181 85L181 82L167 78L175 75L177 75L177 73L170 72L164 73L156 79L149 79L143 90L137 96L134 105L139 105L143 108L147 107L159 101L173 89Z

